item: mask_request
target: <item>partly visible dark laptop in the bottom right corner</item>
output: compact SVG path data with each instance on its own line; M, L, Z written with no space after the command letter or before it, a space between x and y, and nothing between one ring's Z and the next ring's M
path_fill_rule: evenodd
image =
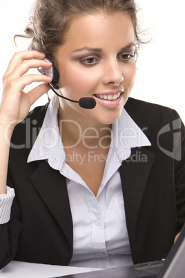
M133 266L108 268L55 278L184 278L185 277L185 224L166 259L139 263Z

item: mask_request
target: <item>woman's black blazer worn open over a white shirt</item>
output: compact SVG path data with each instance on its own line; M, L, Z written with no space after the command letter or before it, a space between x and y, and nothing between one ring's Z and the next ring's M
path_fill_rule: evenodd
M72 216L66 180L46 160L27 163L47 106L37 107L12 136L8 185L16 198L0 225L0 266L12 259L68 265ZM132 149L119 171L134 263L166 257L185 221L185 131L177 112L129 98L125 106L152 146Z

